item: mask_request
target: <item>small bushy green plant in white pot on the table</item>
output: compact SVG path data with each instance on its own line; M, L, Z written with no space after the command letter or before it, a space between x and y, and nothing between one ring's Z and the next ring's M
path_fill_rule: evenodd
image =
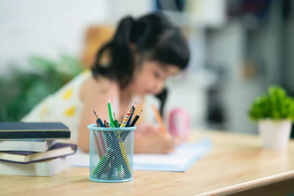
M285 149L294 121L294 98L280 86L270 86L268 93L256 98L249 117L258 122L264 148Z

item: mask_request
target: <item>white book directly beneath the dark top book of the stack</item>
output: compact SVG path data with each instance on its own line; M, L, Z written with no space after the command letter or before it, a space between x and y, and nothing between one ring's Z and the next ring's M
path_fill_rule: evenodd
M5 140L0 141L0 151L45 152L58 140Z

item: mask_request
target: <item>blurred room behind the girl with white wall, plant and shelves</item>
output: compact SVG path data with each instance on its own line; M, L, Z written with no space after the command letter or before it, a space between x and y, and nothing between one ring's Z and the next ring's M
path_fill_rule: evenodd
M182 107L193 128L257 134L253 99L272 84L294 95L292 0L0 0L0 121L19 121L91 66L123 16L154 10L182 28L192 53L168 82L165 118Z

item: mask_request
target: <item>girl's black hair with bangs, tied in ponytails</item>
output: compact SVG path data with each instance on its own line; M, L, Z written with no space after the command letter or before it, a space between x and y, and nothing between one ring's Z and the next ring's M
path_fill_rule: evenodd
M99 49L92 67L93 75L118 80L121 88L126 87L136 66L131 44L136 46L142 58L173 64L180 69L184 69L189 61L189 48L183 35L162 13L155 12L138 19L127 16L120 21L114 37ZM107 66L101 63L105 52L110 55ZM167 96L166 90L163 93L165 96L156 95L161 101Z

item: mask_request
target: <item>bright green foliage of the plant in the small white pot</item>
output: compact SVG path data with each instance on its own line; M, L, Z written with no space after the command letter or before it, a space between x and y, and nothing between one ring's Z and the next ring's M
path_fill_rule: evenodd
M268 93L256 98L249 110L251 120L291 120L294 122L294 98L280 86L270 86Z

